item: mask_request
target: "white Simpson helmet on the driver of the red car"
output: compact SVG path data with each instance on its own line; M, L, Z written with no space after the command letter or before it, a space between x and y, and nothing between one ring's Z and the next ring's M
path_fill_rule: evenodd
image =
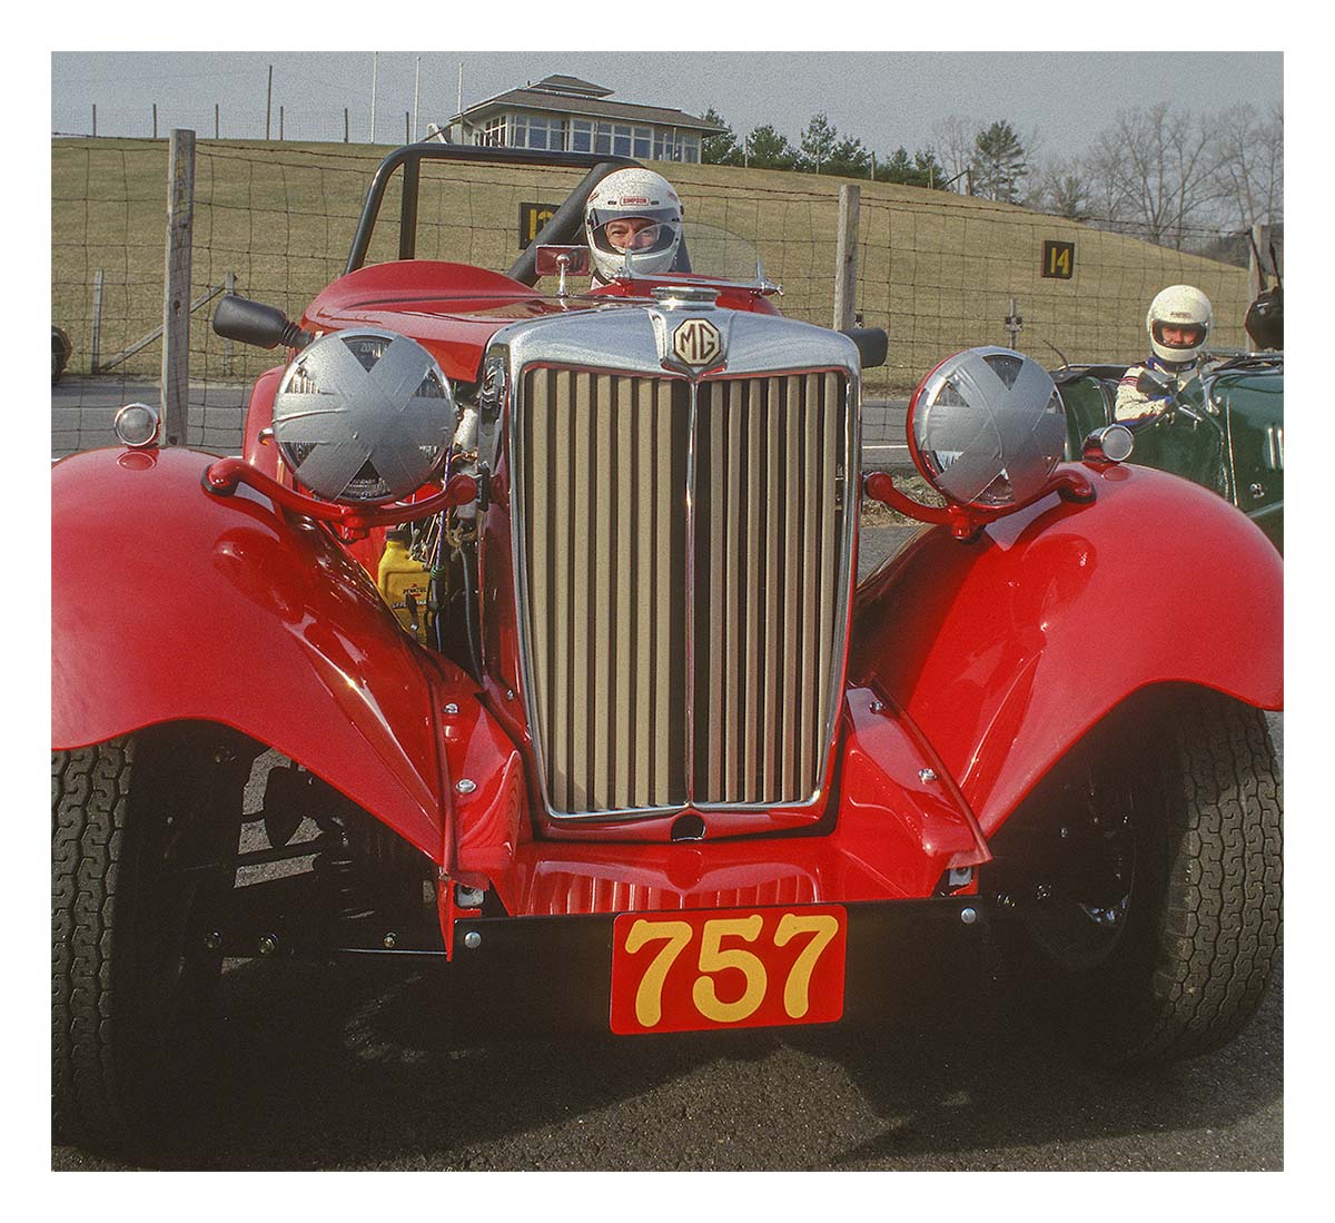
M681 246L681 212L677 192L661 174L638 166L609 174L585 204L585 232L597 278L609 282L618 275L672 271Z

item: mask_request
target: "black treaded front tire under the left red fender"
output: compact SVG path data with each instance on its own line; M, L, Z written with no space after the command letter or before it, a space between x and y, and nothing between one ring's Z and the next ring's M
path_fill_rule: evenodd
M247 773L216 728L52 753L59 1140L125 1148L159 1134L190 1088L222 969L211 933L235 877Z

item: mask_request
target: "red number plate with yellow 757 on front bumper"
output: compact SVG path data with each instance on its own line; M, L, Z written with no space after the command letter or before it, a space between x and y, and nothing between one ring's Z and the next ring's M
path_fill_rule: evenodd
M844 1013L846 933L841 905L622 913L611 1031L832 1023Z

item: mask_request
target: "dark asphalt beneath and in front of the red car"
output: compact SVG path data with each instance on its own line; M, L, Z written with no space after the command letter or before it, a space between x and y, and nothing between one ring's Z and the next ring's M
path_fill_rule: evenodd
M864 571L912 533L866 531ZM1271 728L1283 750L1282 718ZM479 1041L451 1031L450 1016L495 1003L442 1000L434 983L398 968L230 964L220 1097L140 1166L1283 1167L1283 973L1228 1048L1136 1076L1080 1060L1023 1005L921 1033ZM52 1150L55 1170L134 1166Z

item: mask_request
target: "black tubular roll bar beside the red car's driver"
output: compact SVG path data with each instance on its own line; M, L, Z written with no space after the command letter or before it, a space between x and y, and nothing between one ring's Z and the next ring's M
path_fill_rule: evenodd
M413 259L417 254L418 192L421 187L421 167L423 162L477 162L491 166L553 166L562 170L589 167L589 174L557 208L542 232L529 244L527 250L514 262L509 275L525 284L537 279L537 247L539 244L563 244L574 236L583 222L583 206L589 192L611 171L627 166L639 166L634 158L617 158L606 154L549 152L541 148L497 148L481 144L442 144L438 140L422 140L394 150L375 171L371 186L362 206L362 218L352 235L352 250L347 256L343 274L355 272L366 263L366 252L371 246L371 234L380 214L384 190L394 171L403 167L403 200L399 207L399 259Z

